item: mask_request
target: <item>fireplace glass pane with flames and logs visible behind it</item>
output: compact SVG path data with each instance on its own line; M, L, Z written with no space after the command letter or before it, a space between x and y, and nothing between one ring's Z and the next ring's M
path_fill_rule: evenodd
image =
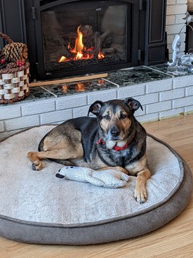
M110 70L131 62L132 4L81 1L46 8L41 35L45 74Z

